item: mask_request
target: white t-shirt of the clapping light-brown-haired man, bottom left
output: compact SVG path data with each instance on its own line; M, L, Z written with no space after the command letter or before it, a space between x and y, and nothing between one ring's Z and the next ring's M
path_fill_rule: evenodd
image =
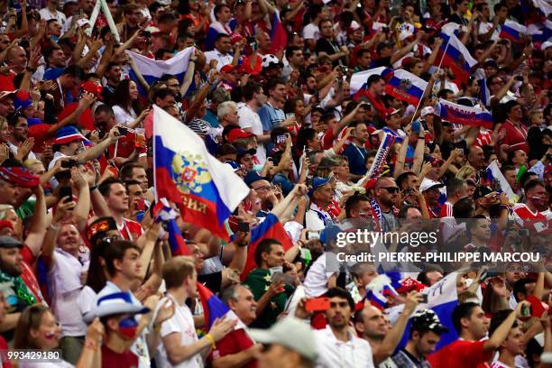
M180 344L181 345L191 345L198 341L198 334L196 334L196 326L194 325L194 317L191 314L188 306L184 304L180 306L176 300L172 299L170 296L162 298L157 305L155 314L157 310L166 302L167 299L172 300L175 305L174 315L167 319L161 325L161 338L169 336L172 333L180 334ZM165 350L165 346L162 344L157 346L157 353L155 354L155 364L158 368L200 368L203 366L201 355L195 354L190 357L188 360L180 362L179 364L172 365L169 361L169 356Z

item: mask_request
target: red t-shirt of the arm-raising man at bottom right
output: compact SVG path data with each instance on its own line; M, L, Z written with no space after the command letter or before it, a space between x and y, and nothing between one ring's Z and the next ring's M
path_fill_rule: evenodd
M437 353L428 356L428 362L436 368L485 368L493 352L483 353L484 341L456 340Z

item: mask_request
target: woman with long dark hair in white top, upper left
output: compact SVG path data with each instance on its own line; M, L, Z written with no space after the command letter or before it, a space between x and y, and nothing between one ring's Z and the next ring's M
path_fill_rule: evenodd
M138 87L130 79L124 79L113 92L111 104L115 113L115 123L123 125L134 124L142 112L138 100Z

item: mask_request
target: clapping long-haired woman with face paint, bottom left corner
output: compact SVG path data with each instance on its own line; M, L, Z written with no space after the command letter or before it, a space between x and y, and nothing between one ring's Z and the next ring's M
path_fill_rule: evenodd
M60 324L51 313L50 308L42 304L34 304L23 310L15 327L14 349L40 350L41 356L51 362L22 362L19 363L19 367L72 367L72 364L62 360L60 353L55 351L60 345L60 332ZM104 327L97 318L87 329L84 349L78 358L76 367L99 368L101 366L100 345L103 335Z

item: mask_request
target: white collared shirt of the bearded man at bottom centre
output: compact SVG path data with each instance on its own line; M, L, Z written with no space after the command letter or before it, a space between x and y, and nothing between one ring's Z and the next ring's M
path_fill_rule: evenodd
M337 340L331 327L314 332L317 347L317 368L372 368L373 354L370 344L349 333L349 341Z

